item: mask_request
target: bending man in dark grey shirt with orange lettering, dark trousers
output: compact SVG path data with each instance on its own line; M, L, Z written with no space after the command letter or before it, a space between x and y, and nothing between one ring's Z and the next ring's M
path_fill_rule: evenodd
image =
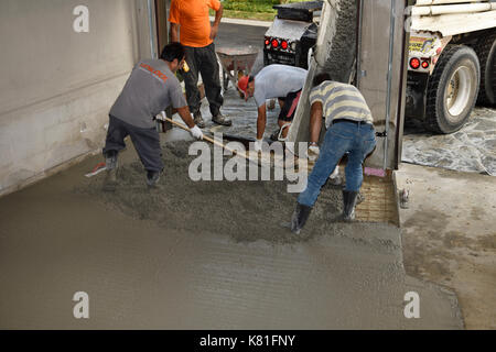
M174 76L184 62L183 45L172 43L163 48L160 59L141 61L132 69L109 112L104 147L107 167L105 190L116 189L117 156L126 147L125 138L128 135L147 170L148 186L157 187L164 165L160 136L153 119L169 106L172 105L177 110L195 139L203 139L202 130L193 122L181 85Z

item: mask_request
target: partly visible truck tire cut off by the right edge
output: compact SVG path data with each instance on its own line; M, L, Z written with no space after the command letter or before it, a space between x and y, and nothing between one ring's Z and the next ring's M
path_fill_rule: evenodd
M475 46L481 62L481 90L477 103L496 105L496 33L482 37Z

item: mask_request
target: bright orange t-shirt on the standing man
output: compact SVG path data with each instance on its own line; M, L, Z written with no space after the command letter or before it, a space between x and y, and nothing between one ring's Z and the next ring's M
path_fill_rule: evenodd
M212 44L208 8L220 9L218 0L172 0L169 22L179 24L180 42L186 46L203 47Z

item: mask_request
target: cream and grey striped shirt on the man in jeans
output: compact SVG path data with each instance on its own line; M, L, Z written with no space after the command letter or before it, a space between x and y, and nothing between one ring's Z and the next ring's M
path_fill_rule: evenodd
M374 123L370 109L355 86L326 80L310 92L310 105L314 102L322 102L327 129L337 119Z

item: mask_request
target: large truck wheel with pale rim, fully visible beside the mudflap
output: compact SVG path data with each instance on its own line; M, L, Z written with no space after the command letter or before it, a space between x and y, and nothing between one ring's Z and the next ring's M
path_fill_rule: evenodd
M474 50L448 45L427 90L425 128L435 133L459 131L477 100L481 67Z

